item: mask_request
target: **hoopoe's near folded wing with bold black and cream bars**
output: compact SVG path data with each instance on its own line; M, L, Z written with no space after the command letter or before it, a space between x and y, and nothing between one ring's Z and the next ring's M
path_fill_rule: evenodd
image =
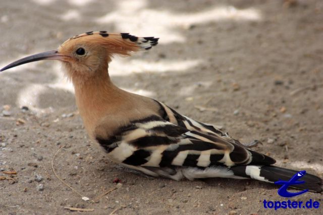
M189 130L159 116L130 122L108 140L97 137L118 163L142 167L272 165L275 160L220 135Z

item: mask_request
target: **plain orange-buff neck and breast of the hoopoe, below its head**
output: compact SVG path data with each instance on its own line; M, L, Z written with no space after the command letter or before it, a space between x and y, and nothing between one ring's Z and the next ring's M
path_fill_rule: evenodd
M159 105L154 100L118 88L107 69L86 81L73 77L72 81L76 104L91 138L109 138L132 120L158 114Z

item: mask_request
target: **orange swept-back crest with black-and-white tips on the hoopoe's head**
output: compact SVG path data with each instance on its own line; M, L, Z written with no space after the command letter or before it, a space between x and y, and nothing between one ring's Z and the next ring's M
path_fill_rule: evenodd
M133 51L140 49L148 50L158 44L159 38L137 37L129 33L107 33L106 31L90 31L78 34L66 40L61 46L67 43L84 41L106 46L112 54L130 55Z

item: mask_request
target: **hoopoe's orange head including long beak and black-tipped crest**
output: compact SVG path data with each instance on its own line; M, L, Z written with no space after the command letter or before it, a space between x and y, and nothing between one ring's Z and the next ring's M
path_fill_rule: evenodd
M58 49L37 53L15 61L0 71L41 60L60 60L67 68L68 76L93 76L106 71L113 55L129 56L140 49L150 49L158 38L136 37L129 33L87 32L66 40Z

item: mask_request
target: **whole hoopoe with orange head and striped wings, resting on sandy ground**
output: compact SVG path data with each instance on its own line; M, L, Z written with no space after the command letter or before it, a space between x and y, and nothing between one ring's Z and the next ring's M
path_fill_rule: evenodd
M75 89L84 127L113 162L153 177L255 179L275 183L298 171L274 166L275 159L220 129L177 113L155 99L117 87L108 66L115 55L130 56L158 44L155 37L90 31L58 49L22 58L0 71L40 60L59 60ZM322 179L306 174L296 189L322 192Z

